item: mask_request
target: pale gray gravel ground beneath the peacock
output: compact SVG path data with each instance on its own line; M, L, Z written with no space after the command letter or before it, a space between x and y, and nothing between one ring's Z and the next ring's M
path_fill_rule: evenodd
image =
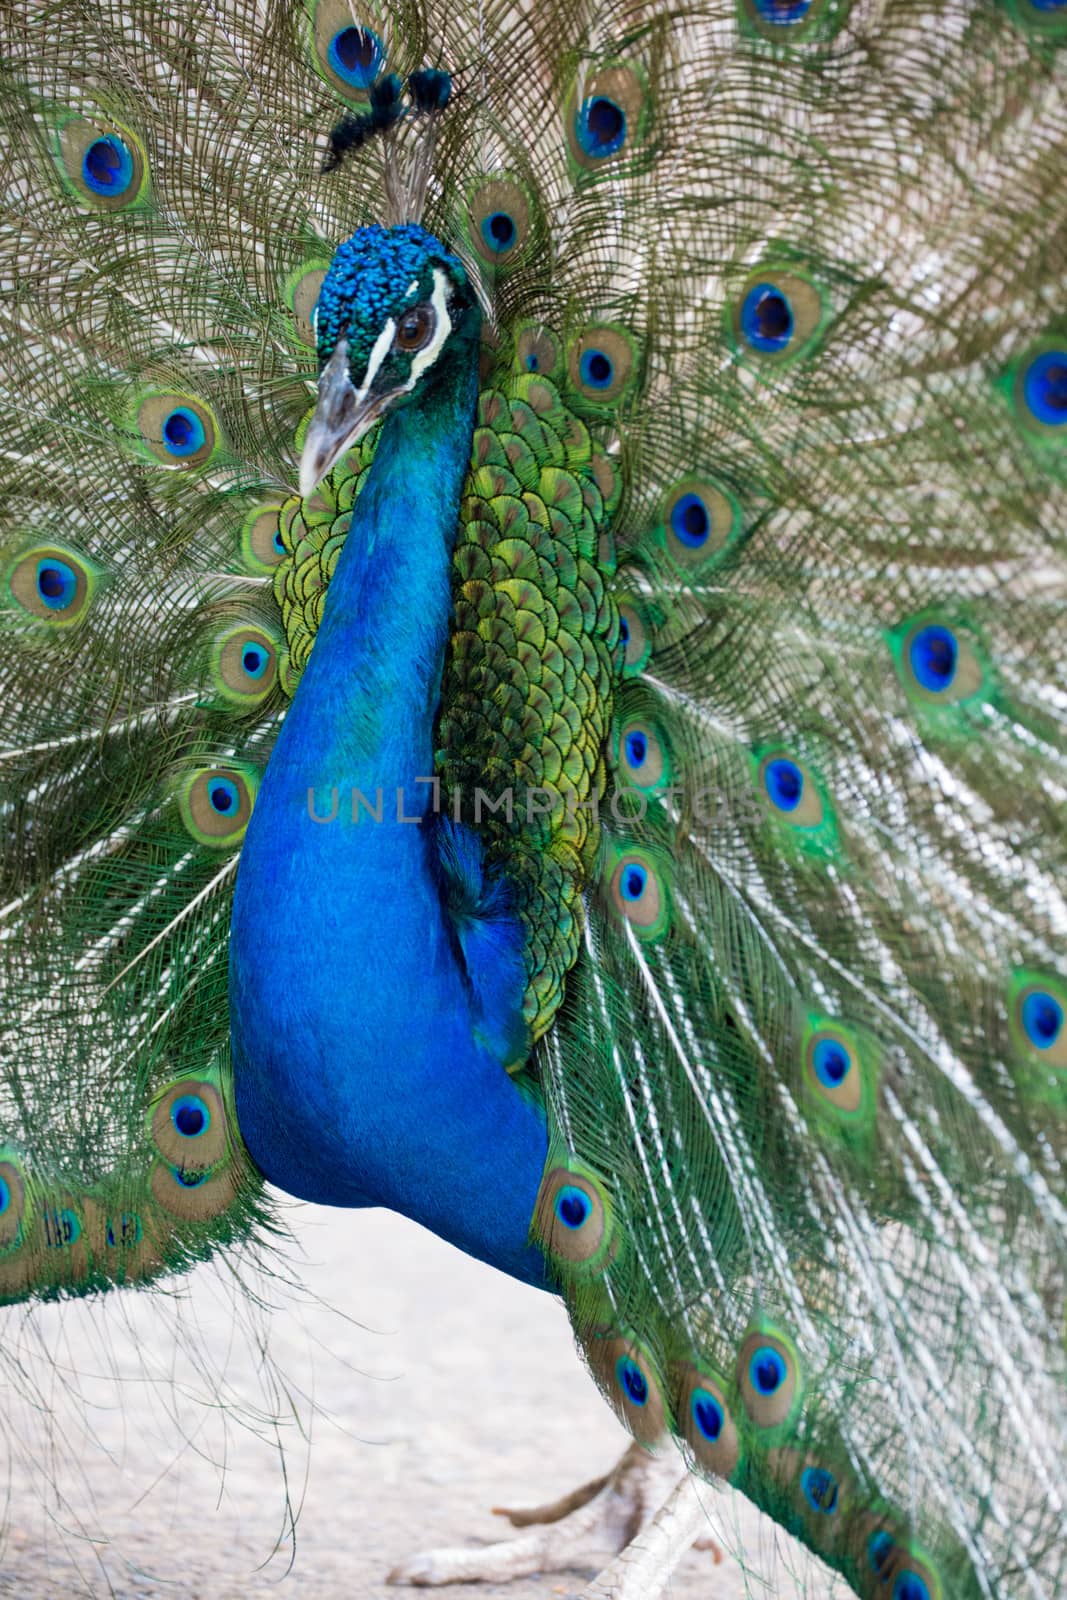
M234 1336L226 1274L205 1267L170 1304L126 1293L0 1314L0 1595L402 1600L416 1590L384 1584L402 1557L506 1538L493 1504L552 1499L621 1454L625 1435L547 1294L382 1211L294 1206L290 1222L296 1270L328 1302L272 1291L270 1352L293 1386L294 1547L278 1451L248 1426L269 1368ZM174 1355L174 1325L194 1357ZM13 1398L13 1363L37 1384L32 1408ZM670 1600L845 1594L731 1491L712 1491L709 1514L744 1566L694 1550ZM590 1552L585 1571L438 1592L561 1600L600 1565Z

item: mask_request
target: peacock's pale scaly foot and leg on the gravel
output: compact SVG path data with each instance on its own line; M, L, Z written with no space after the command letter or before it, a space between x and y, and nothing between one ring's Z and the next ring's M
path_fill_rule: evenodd
M696 1485L678 1477L673 1451L653 1456L630 1445L606 1477L547 1506L494 1507L494 1514L530 1531L499 1544L424 1550L397 1566L387 1582L502 1584L531 1573L587 1568L609 1552L614 1560L582 1590L582 1600L656 1600L693 1544L721 1560L718 1546L705 1538L707 1512Z

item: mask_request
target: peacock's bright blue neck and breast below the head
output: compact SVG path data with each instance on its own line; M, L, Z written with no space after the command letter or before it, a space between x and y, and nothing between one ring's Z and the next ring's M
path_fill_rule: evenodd
M390 1206L542 1282L528 1230L544 1115L483 1043L434 826L411 821L432 806L416 779L434 773L475 352L446 352L435 387L387 419L264 774L234 899L234 1074L272 1182ZM376 808L379 789L381 821L358 803L354 819L354 792Z

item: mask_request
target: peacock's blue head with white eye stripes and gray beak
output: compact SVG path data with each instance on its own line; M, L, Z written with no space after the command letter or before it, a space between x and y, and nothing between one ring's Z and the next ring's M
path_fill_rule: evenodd
M432 382L445 352L477 339L477 320L462 262L426 229L362 227L346 240L318 294L318 403L301 494L386 411Z

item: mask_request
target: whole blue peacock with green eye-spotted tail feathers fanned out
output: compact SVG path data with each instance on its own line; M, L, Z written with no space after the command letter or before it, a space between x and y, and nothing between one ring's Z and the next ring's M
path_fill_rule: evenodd
M1065 1594L1064 0L0 29L0 1298L387 1206L633 1435L398 1582Z

